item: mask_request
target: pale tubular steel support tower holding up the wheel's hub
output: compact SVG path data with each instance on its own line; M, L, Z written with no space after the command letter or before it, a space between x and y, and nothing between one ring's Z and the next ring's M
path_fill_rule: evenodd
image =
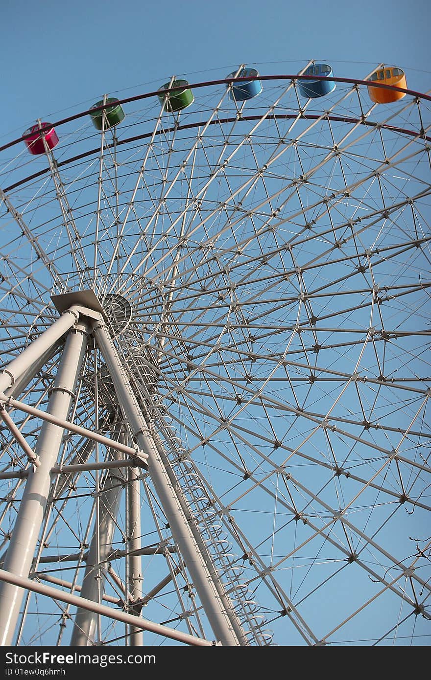
M65 333L68 333L65 347L61 355L59 370L51 390L47 413L40 415L44 422L39 433L35 454L39 460L27 475L25 492L20 503L18 518L14 533L10 541L4 570L16 577L29 577L31 565L37 549L37 541L42 527L44 511L48 502L51 486L51 475L56 470L59 459L61 442L65 427L76 428L67 423L71 404L74 400L74 389L80 375L84 352L86 350L86 335L93 333L101 355L106 362L110 378L114 385L116 400L124 418L138 445L142 458L148 458L148 472L159 496L161 506L172 530L172 535L182 558L190 572L197 594L208 616L208 621L217 643L222 645L245 644L244 634L236 618L233 607L225 594L223 585L217 578L217 571L212 564L208 550L199 537L196 527L189 522L189 508L187 500L182 494L178 481L165 456L161 441L149 428L146 415L142 413L137 398L127 377L120 356L116 351L108 327L105 324L101 309L87 309L82 306L82 297L64 296L63 315L52 324L45 333L31 343L20 356L15 358L0 374L0 390L3 392L3 403L29 409L12 398L14 385L25 381L25 375L39 367L42 357L48 356L55 343L59 343ZM71 326L74 326L72 330ZM10 394L8 400L7 394ZM36 409L33 409L36 410ZM45 416L45 417L44 417ZM84 431L82 428L77 430ZM96 435L93 435L96 437ZM100 435L97 435L100 437ZM116 461L124 459L124 451L118 450L123 436L112 440L112 456ZM114 444L114 440L118 440ZM115 449L114 449L115 445ZM131 447L123 449L134 451ZM39 465L39 467L36 466ZM107 464L108 466L108 464ZM127 583L125 583L125 604L133 609L133 602L142 600L142 568L140 551L140 480L134 478L135 473L129 470L129 486L127 492ZM106 476L103 483L103 493L97 499L96 526L91 547L87 558L87 566L82 583L82 601L93 600L100 603L101 586L103 585L103 562L106 562L112 550L112 539L115 528L115 518L118 514L123 483L127 480L127 470L118 471ZM0 587L0 632L1 644L11 645L18 621L23 592L13 581L3 582ZM133 612L138 615L138 611ZM78 607L71 645L97 644L96 626L99 613L89 607ZM130 621L130 619L129 619ZM129 644L142 645L142 626L127 624L129 630Z

